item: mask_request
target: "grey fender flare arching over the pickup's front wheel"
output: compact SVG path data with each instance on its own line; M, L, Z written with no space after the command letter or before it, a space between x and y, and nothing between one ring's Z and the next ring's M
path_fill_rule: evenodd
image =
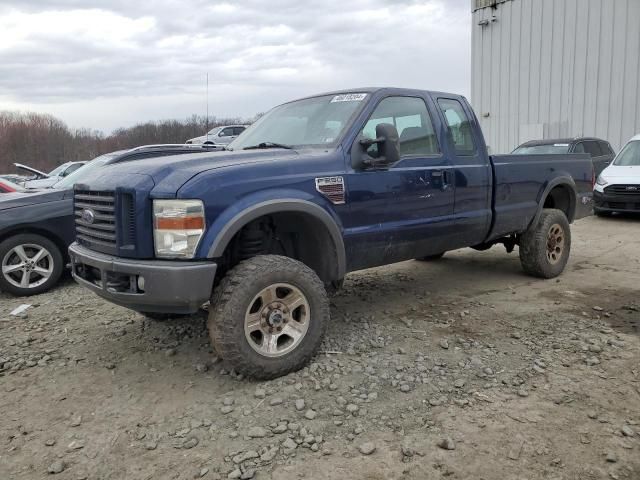
M336 278L335 280L344 278L347 270L347 259L342 232L340 231L338 224L331 217L331 215L329 215L329 213L327 213L327 211L319 205L313 202L296 198L267 200L252 205L236 214L229 222L227 222L227 224L215 237L213 243L211 244L211 247L209 248L207 257L221 257L224 254L227 245L229 245L229 242L233 239L235 234L238 233L242 229L242 227L247 225L249 222L264 215L285 212L306 213L322 222L322 224L329 232L329 235L331 236L336 249L338 278Z

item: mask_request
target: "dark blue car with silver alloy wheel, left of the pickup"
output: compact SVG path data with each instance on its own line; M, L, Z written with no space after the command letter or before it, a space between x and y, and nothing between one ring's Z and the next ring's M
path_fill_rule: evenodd
M75 182L107 165L184 153L211 151L188 145L149 145L101 155L55 185L0 196L0 290L34 295L52 288L68 263L67 247L75 236ZM109 229L103 227L105 234Z

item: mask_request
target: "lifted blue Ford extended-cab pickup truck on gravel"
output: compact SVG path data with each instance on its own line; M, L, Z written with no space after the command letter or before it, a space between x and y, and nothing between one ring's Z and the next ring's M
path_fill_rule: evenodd
M348 272L516 246L553 278L592 211L587 155L489 156L464 97L357 89L280 105L222 152L105 167L75 186L75 279L158 316L209 305L237 372L301 368Z

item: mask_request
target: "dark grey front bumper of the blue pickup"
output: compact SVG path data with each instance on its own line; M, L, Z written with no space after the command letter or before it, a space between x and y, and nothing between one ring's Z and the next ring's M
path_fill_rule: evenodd
M69 256L76 282L112 303L139 312L198 311L211 297L217 269L213 262L114 257L77 243L69 247Z

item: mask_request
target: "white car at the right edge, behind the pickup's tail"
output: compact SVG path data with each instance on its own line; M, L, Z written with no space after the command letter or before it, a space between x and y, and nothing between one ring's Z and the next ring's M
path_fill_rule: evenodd
M640 135L629 140L598 176L593 199L596 215L640 213Z

